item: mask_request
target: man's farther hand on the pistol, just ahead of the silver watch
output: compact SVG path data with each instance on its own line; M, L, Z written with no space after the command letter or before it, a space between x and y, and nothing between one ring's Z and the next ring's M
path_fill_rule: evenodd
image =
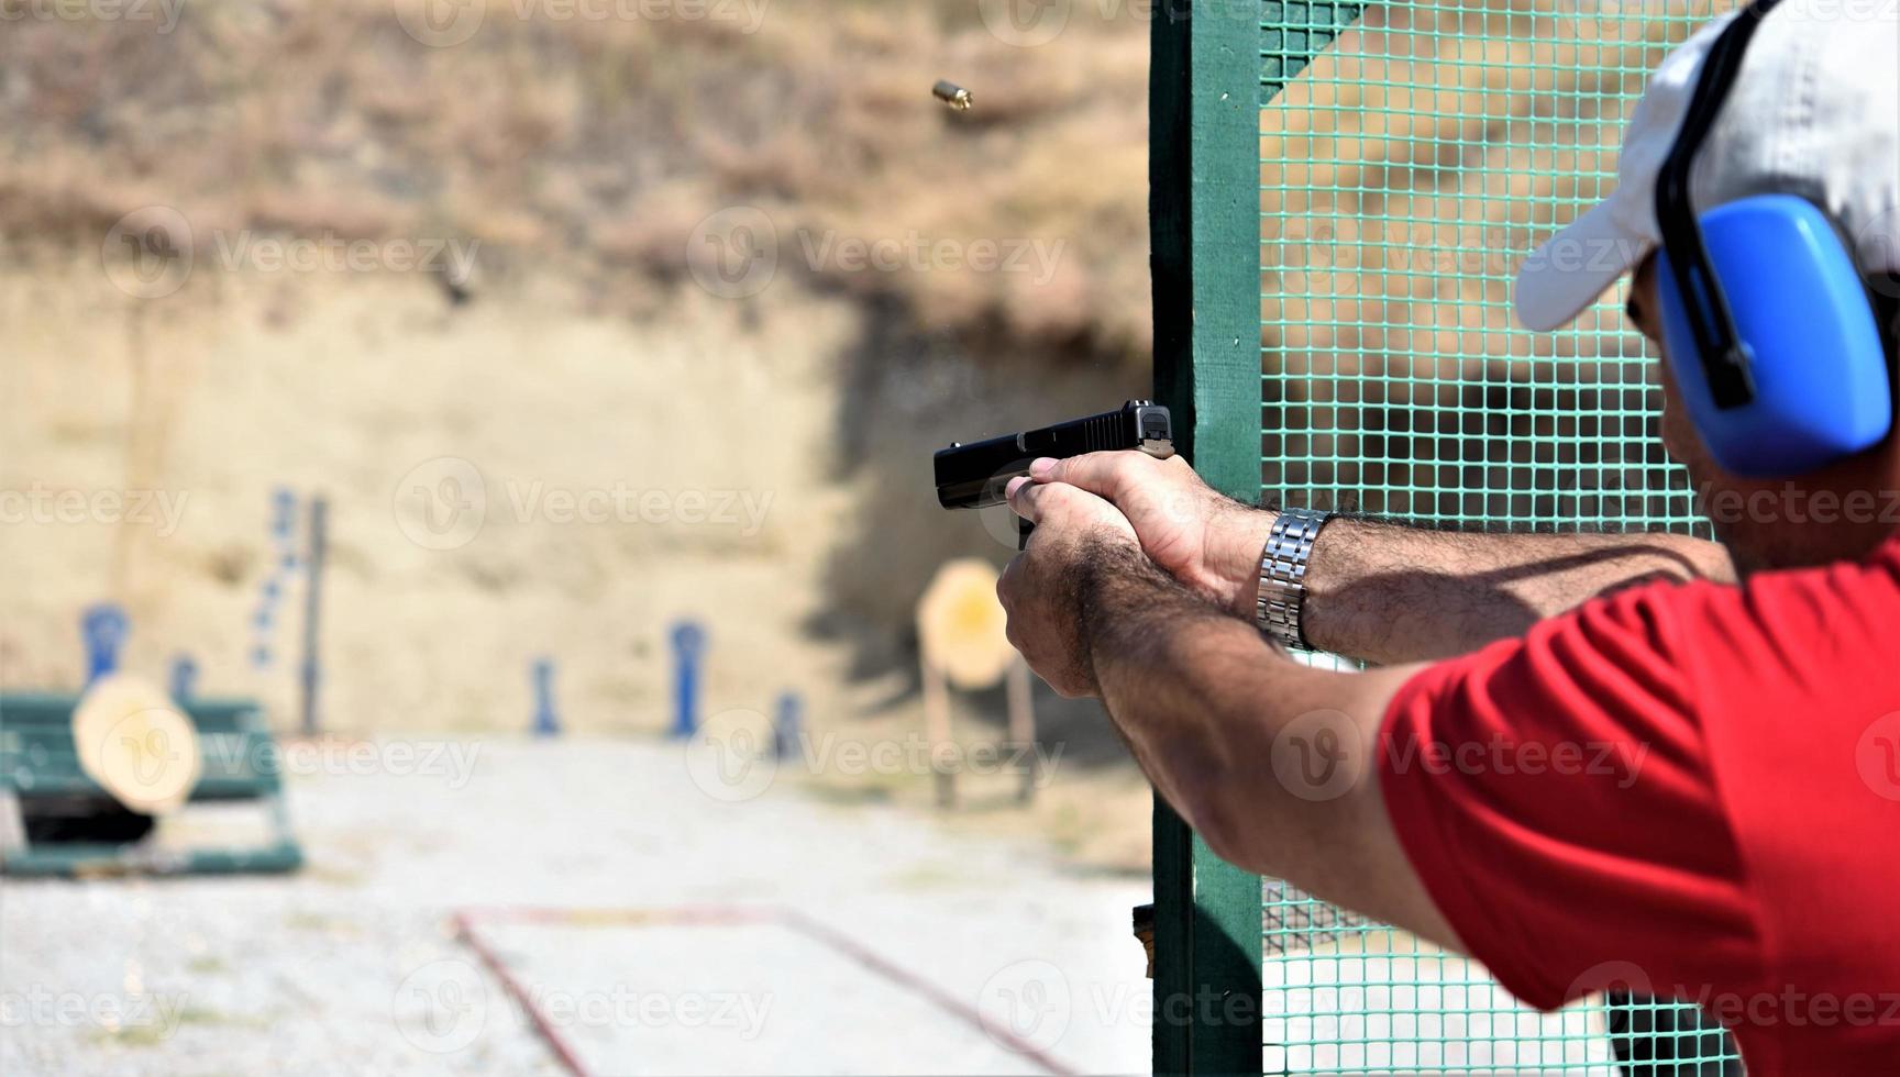
M1226 498L1186 460L1146 452L1091 452L1037 460L1036 482L1068 482L1108 500L1134 526L1142 551L1174 579L1239 617L1254 617L1260 551L1275 513Z

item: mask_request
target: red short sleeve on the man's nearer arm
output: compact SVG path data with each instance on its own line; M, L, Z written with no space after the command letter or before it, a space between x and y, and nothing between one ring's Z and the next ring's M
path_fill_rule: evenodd
M1429 667L1385 714L1379 783L1414 870L1533 1007L1759 973L1697 678L1672 653L1689 591L1623 593Z

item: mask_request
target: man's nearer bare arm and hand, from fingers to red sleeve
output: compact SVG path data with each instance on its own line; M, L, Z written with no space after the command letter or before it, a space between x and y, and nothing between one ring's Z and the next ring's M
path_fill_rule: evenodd
M1444 946L1457 938L1406 860L1374 767L1416 667L1309 669L1161 572L1106 501L1026 486L1036 520L998 585L1011 642L1064 695L1100 695L1155 788L1252 872Z

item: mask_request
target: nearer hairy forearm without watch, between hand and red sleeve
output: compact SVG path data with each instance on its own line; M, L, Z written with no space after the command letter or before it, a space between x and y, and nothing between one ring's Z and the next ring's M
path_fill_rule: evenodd
M1079 589L1089 663L1155 790L1229 862L1455 944L1408 885L1372 788L1376 729L1416 669L1311 669L1132 549L1091 560ZM1330 777L1290 771L1300 746L1320 748Z

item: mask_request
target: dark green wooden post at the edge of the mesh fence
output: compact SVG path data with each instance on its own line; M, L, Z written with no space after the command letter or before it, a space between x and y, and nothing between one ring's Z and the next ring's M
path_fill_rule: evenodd
M1260 9L1161 0L1150 65L1155 399L1176 446L1260 496ZM1260 1073L1260 878L1155 800L1155 1073Z

